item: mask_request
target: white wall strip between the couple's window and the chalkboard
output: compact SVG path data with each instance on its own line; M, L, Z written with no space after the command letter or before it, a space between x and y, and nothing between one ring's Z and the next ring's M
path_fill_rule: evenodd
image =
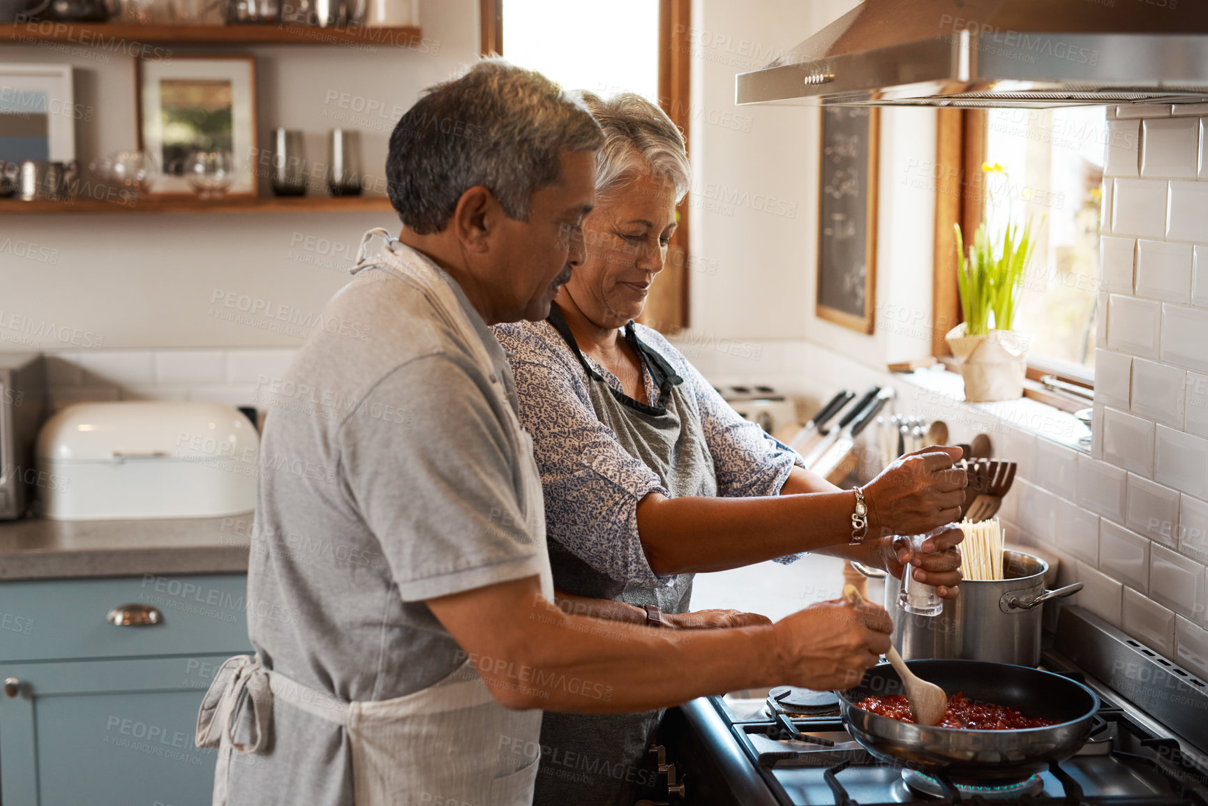
M692 6L693 331L803 338L814 249L817 114L736 106L734 75L813 30L815 2L697 0ZM771 294L769 294L771 292Z

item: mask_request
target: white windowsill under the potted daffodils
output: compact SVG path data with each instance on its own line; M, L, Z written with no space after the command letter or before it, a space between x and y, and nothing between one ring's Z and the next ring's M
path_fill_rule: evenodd
M957 411L965 407L982 417L991 417L1000 421L1004 425L1043 436L1075 451L1087 454L1091 452L1091 429L1074 414L1053 406L1029 398L999 402L968 402L965 401L964 379L958 372L951 372L942 367L914 370L894 377L934 395L935 399L930 401L934 405ZM1090 405L1088 401L1087 407ZM1081 441L1082 437L1086 437L1086 442Z

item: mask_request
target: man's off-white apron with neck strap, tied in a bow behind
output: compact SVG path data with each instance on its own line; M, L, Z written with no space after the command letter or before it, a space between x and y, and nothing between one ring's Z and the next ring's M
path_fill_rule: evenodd
M372 236L388 240L377 259L367 257ZM545 501L541 476L533 459L533 441L507 402L482 340L474 330L448 283L420 253L370 230L361 240L355 272L382 269L416 286L431 302L437 320L447 325L470 350L477 369L493 382L515 442L523 482L523 506L529 534L540 551L545 543ZM541 596L553 601L550 572L538 578ZM510 711L490 694L469 657L446 678L401 697L342 702L326 691L303 686L260 656L228 659L214 677L197 717L198 747L219 748L214 772L214 806L227 802L227 781L234 753L271 753L273 701L281 700L341 725L352 748L353 798L356 806L418 806L472 804L474 806L527 806L536 762L517 766L515 753L501 752L501 737L512 747L527 747L538 737L541 711ZM255 726L249 742L236 738L240 708L250 708ZM294 736L290 741L306 741ZM523 761L523 756L519 756ZM451 762L451 759L454 759ZM257 802L273 793L259 793Z

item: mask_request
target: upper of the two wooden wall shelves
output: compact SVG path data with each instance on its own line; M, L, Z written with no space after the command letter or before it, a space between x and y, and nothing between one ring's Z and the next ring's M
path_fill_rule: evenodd
M0 25L0 44L72 42L104 47L109 42L170 45L362 45L416 47L419 28L338 25L316 28L292 23L245 25L130 25L126 23L23 22ZM133 51L130 51L133 52Z

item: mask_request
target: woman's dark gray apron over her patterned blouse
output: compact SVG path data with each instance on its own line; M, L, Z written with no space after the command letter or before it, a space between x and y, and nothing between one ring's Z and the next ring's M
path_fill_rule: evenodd
M550 324L562 335L587 372L592 408L600 423L612 429L617 441L634 459L654 470L675 498L716 495L713 457L704 429L683 389L683 378L626 327L626 341L658 387L655 405L639 402L616 392L583 358L562 312L554 305ZM692 595L692 574L680 574L669 586L651 587L618 582L602 574L550 540L553 585L568 593L657 604L663 613L684 613ZM637 714L565 714L546 711L541 723L541 767L534 806L631 806L649 798L657 772L647 749L662 719L662 711Z

